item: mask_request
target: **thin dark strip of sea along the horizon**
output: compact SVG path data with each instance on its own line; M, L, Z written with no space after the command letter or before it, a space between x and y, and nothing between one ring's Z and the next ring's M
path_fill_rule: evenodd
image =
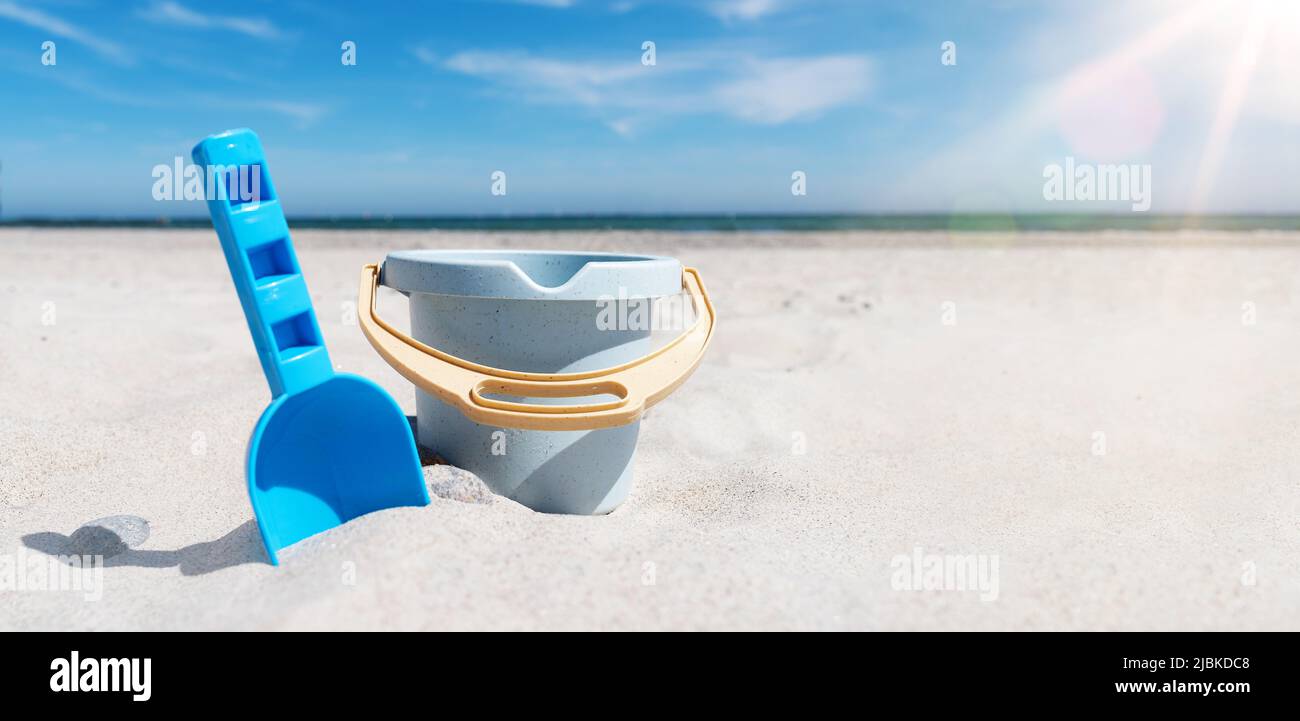
M299 229L335 230L658 230L658 231L1257 231L1300 230L1296 214L1096 214L1096 213L701 213L555 216L303 216ZM211 227L207 217L18 217L0 227Z

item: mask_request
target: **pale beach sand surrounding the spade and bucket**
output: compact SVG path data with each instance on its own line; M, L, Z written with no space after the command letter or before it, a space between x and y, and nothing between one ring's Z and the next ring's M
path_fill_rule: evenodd
M671 253L720 327L612 514L429 465L432 505L273 568L243 478L269 394L216 236L0 230L0 564L110 556L95 599L0 590L0 630L1300 629L1300 235L295 242L334 362L412 414L350 305L391 249Z

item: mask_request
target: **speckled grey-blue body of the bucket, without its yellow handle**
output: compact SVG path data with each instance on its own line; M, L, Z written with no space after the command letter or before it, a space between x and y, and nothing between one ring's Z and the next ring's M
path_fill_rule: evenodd
M410 297L411 335L421 343L508 370L578 373L662 344L644 323L608 327L598 320L602 309L608 318L611 299L680 294L681 264L615 253L402 251L389 253L381 282ZM422 446L534 511L608 513L632 487L640 422L590 431L497 429L419 388L416 414Z

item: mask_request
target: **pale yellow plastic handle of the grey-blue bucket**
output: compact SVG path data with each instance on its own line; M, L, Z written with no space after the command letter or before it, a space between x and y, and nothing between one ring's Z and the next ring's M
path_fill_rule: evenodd
M667 346L621 365L582 373L503 370L445 353L399 331L374 309L378 264L361 269L358 313L361 333L380 356L420 390L455 407L476 424L528 430L593 430L623 426L677 390L705 355L716 316L699 272L684 268L681 283L696 308L696 321ZM488 398L614 395L618 400L581 405L537 405Z

